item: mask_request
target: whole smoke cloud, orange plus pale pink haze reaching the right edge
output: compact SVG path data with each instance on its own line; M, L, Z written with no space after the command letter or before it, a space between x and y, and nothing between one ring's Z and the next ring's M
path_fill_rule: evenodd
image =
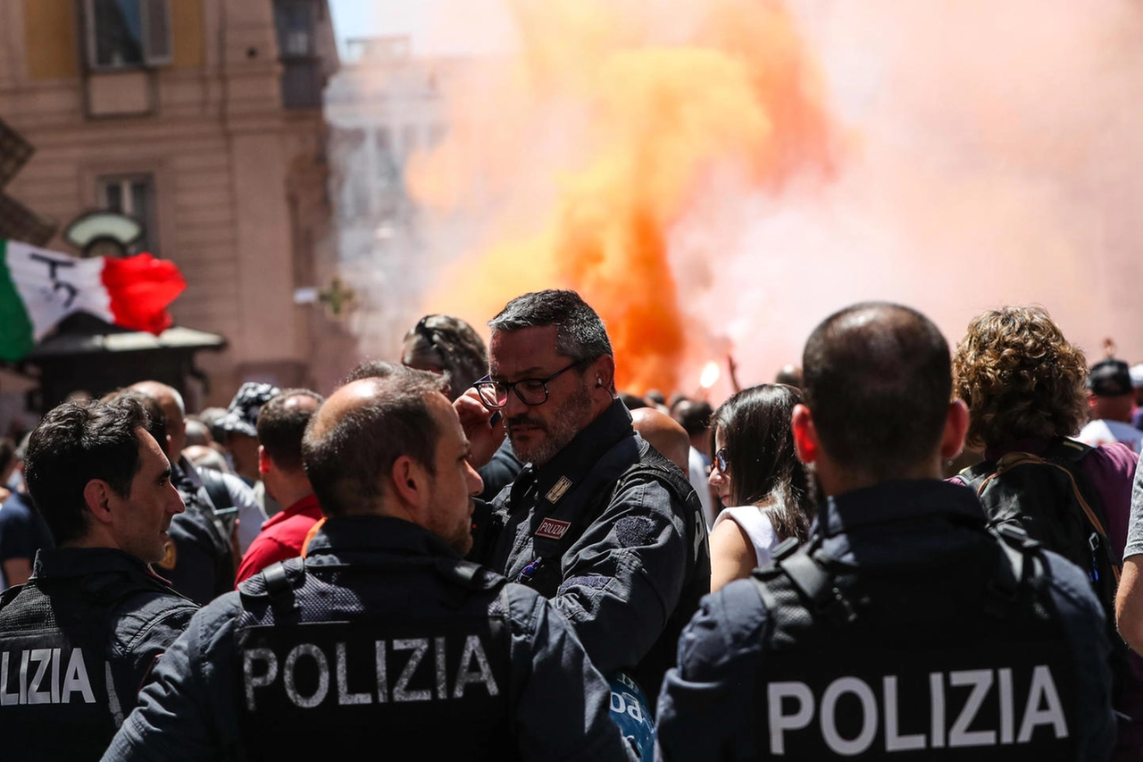
M1137 3L509 7L518 55L454 94L461 128L415 162L430 215L478 221L438 228L455 262L426 308L481 325L577 288L636 389L693 391L726 351L769 380L866 299L953 343L1039 302L1093 360L1105 335L1143 359Z

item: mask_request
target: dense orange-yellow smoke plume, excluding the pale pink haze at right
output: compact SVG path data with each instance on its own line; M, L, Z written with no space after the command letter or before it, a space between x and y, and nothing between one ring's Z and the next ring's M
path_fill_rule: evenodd
M621 388L685 386L696 333L672 230L727 174L777 191L793 173L830 169L817 66L768 0L665 15L630 0L512 9L519 55L457 92L450 140L410 166L422 204L479 217L480 240L426 307L480 325L527 291L574 288L608 326Z

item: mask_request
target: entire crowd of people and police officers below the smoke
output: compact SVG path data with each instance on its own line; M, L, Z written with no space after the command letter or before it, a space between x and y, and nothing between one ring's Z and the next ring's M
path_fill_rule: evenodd
M488 327L0 440L0 757L1143 759L1143 365L863 303L716 408Z

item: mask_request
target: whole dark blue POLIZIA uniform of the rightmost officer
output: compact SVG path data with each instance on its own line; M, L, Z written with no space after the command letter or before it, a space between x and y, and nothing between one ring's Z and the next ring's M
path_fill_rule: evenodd
M679 760L1105 760L1103 611L1086 576L985 530L975 494L830 499L807 546L703 601L658 705Z

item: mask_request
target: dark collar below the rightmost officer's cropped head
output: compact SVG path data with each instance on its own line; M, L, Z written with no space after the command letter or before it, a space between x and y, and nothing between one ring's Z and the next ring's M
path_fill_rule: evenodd
M984 509L968 487L941 479L908 479L828 498L818 506L810 531L833 537L858 526L941 514L978 521L981 526L985 523Z

